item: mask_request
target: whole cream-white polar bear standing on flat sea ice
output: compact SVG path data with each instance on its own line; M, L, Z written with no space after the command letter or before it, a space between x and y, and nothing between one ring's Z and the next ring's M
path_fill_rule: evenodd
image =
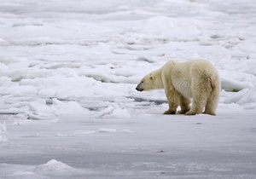
M150 72L137 85L136 90L164 89L169 109L164 114L177 113L216 115L220 95L218 72L209 61L168 61L160 69ZM192 101L192 107L190 103Z

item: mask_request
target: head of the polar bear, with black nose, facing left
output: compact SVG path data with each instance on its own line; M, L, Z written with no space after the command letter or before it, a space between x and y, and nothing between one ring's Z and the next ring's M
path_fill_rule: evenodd
M139 84L137 84L136 90L157 90L163 89L162 78L158 73L151 72L146 75Z

